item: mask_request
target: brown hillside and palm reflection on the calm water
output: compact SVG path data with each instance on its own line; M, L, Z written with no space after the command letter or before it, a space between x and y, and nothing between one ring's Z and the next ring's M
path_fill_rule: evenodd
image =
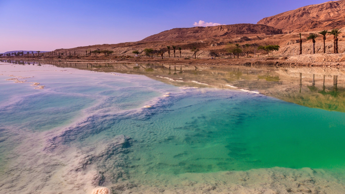
M45 63L64 68L145 75L181 87L217 87L259 91L264 95L310 108L345 112L345 72L339 69L83 62Z

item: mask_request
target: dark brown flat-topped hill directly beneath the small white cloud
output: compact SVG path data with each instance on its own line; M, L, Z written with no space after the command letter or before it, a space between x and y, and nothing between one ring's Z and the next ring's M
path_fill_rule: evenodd
M231 39L236 35L276 35L280 29L261 24L234 24L212 27L174 28L141 41L183 41L200 39Z

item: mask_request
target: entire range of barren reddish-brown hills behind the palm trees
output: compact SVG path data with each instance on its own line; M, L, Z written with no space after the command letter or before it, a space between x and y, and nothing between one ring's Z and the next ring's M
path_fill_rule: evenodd
M56 49L56 53L60 53L59 58L70 59L70 51L73 52L73 57L78 58L85 56L86 58L102 58L104 54L91 56L90 51L93 50L111 50L114 53L111 58L116 57L131 57L134 50L140 52L140 56L145 55L143 51L145 48L152 48L155 50L167 49L167 45L176 45L182 48L182 57L193 57L193 52L190 49L197 46L200 49L200 58L211 58L215 53L222 53L227 56L227 45L229 43L239 43L241 45L251 44L253 48L258 45L278 44L281 48L277 55L288 56L295 55L299 50L299 33L302 33L303 39L303 54L312 53L312 41L307 41L306 37L309 32L317 32L319 30L330 30L332 28L345 27L345 0L329 1L321 4L309 5L298 8L296 10L287 11L272 17L267 17L258 22L258 24L234 24L234 25L220 25L213 27L193 27L193 28L174 28L156 35L149 36L137 42L124 42L118 44L102 44L80 46L69 49ZM287 33L291 30L294 33ZM345 29L343 30L345 31ZM339 50L345 52L345 38L342 34L339 37ZM322 37L316 39L315 44L316 53L323 53ZM13 52L13 51L12 51ZM264 53L263 51L255 50L256 53ZM326 53L333 52L332 37L326 39ZM74 56L76 53L77 56ZM88 53L86 55L86 53ZM47 55L48 56L48 55ZM45 56L45 57L47 57ZM53 58L55 56L49 56ZM318 58L314 61L320 61L324 58ZM296 59L297 60L297 59ZM310 57L298 59L298 62L313 62ZM333 58L326 59L328 62L334 61ZM341 60L341 59L337 59ZM343 60L343 59L342 59Z

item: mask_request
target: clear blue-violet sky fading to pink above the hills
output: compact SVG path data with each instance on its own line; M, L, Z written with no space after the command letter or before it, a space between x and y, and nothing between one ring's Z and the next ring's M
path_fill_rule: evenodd
M0 53L138 41L173 28L254 23L327 0L0 0Z

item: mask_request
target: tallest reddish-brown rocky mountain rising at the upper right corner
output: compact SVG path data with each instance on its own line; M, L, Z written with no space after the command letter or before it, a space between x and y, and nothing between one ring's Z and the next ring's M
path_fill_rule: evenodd
M284 32L307 32L345 27L345 0L308 5L258 22Z

